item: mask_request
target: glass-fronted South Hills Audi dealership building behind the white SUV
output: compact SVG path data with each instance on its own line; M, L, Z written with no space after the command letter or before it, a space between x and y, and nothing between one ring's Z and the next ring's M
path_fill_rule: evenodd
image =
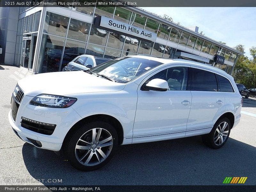
M139 54L181 58L231 74L243 54L200 35L197 27L182 27L138 7L102 6L96 0L75 1L91 2L87 7L31 2L0 6L0 63L34 74L61 71L81 54L110 59Z

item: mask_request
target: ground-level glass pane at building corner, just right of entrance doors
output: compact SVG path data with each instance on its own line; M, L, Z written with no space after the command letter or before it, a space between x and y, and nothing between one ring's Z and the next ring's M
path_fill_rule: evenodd
M59 71L64 40L65 38L43 34L38 59L39 73Z

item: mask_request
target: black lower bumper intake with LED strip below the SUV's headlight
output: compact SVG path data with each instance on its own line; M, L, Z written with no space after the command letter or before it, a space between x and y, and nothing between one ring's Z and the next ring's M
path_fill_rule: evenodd
M20 123L21 127L44 135L52 135L56 128L56 124L43 123L26 117L21 117Z

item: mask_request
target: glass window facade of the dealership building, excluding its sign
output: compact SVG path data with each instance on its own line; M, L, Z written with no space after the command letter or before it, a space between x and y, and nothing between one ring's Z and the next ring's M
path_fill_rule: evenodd
M104 2L103 0L100 1ZM96 0L76 0L76 2L80 2L80 4L84 4L84 2L95 3ZM21 7L20 12L23 12L26 9L28 8ZM234 62L237 57L235 53L193 36L189 34L189 32L173 28L159 22L158 20L130 11L123 7L92 5L86 7L65 6L63 7L63 11L65 11L65 9L72 12L82 13L87 15L87 17L96 17L97 15L101 15L113 18L114 20L156 33L157 38L187 46L188 48L208 53L212 56L219 54L224 56L225 60L229 60L231 62ZM62 13L57 14L49 11L46 12L46 17L43 18L43 38L40 44L38 67L36 68L36 72L43 73L60 71L68 62L81 54L90 54L110 59L136 54L174 58L174 54L177 51L176 48L166 46L166 44L147 42L119 34L118 32L111 32L96 28L92 23L90 23L91 21L82 21L75 15L76 14L73 14L73 16L67 17L62 15ZM36 45L35 39L37 39L36 32L39 28L40 16L41 11L19 20L17 31L17 41L19 44L17 43L18 46L16 46L16 50L22 49L24 38L33 38L34 41L28 41L27 44L31 44L30 54L35 54L33 49ZM20 36L20 34L24 33L24 37ZM21 62L22 60L21 52L19 53L20 55L17 56L17 62ZM34 58L31 59L32 65L33 60ZM215 64L213 60L210 60L209 63L222 70L232 70L232 66Z

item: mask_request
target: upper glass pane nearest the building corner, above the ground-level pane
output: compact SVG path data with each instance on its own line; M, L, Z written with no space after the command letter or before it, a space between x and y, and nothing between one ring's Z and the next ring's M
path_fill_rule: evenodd
M44 32L58 36L66 36L68 21L68 17L46 12Z

